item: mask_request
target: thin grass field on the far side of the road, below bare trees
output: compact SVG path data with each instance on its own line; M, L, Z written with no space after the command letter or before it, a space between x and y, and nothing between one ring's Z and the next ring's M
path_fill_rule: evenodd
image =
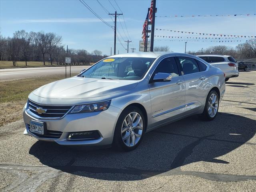
M90 63L92 65L94 63ZM26 67L59 67L64 65L57 65L56 62L52 62L52 65L50 62L41 62L41 61L28 61L27 66L26 62L24 61L17 61L16 66L14 67L12 64L12 61L0 61L0 69L10 69L10 68L26 68Z

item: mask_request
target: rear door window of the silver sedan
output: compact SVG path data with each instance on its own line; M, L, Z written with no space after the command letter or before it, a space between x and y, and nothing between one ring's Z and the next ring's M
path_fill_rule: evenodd
M181 68L182 68L182 74L192 74L200 72L198 64L196 60L189 57L178 57L178 60L180 61Z

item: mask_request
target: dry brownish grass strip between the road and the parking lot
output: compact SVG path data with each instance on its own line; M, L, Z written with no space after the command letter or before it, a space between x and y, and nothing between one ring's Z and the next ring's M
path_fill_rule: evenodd
M72 76L76 74L71 74ZM22 108L28 99L28 94L36 88L65 78L65 75L54 75L37 78L4 81L0 83L0 126L20 120Z

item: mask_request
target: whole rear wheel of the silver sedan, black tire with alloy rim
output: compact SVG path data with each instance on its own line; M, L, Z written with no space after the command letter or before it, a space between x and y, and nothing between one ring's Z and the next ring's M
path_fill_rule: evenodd
M212 98L215 98L215 96L216 96L216 101L214 102ZM204 112L202 113L202 119L206 121L214 120L214 118L216 118L217 116L218 110L219 110L219 96L216 91L212 90L210 91L210 93L206 98L206 102L204 105Z

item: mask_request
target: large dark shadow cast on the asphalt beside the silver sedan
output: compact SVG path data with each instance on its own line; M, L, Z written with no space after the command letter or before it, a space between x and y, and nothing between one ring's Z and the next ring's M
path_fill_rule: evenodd
M145 134L131 152L86 151L38 141L29 153L46 166L74 175L140 180L198 161L228 164L218 157L245 143L255 146L248 142L256 133L255 124L256 120L227 113L218 113L211 122L191 116Z

